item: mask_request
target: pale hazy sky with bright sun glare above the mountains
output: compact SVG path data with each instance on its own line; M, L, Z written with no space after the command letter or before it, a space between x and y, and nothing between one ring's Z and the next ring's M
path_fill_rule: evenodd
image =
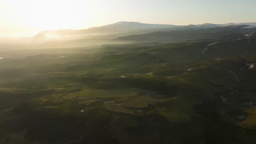
M255 0L0 0L0 37L119 21L190 25L256 22Z

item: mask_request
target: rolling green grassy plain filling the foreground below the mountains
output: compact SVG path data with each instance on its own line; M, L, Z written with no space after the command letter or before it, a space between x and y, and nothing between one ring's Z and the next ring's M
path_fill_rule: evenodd
M238 36L1 51L0 143L255 142L256 37Z

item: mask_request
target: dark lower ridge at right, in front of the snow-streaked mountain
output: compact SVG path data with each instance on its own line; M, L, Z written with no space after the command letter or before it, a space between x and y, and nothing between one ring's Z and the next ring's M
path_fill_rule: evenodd
M144 34L132 34L117 38L121 41L136 43L173 43L187 40L238 39L248 33L256 32L253 25L189 25L171 31L158 31Z

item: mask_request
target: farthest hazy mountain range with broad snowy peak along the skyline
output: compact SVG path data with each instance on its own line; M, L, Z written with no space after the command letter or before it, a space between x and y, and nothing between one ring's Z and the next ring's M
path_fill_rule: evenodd
M130 33L130 32L154 32L154 31L170 31L173 29L189 29L189 28L210 28L210 27L225 27L225 26L245 26L244 28L256 27L256 22L253 23L228 23L224 25L216 25L212 23L205 23L203 25L161 25L161 24L148 24L139 22L121 21L101 27L92 27L88 29L60 29L56 31L43 31L40 34L45 35L86 35L86 34L108 34L108 33Z

